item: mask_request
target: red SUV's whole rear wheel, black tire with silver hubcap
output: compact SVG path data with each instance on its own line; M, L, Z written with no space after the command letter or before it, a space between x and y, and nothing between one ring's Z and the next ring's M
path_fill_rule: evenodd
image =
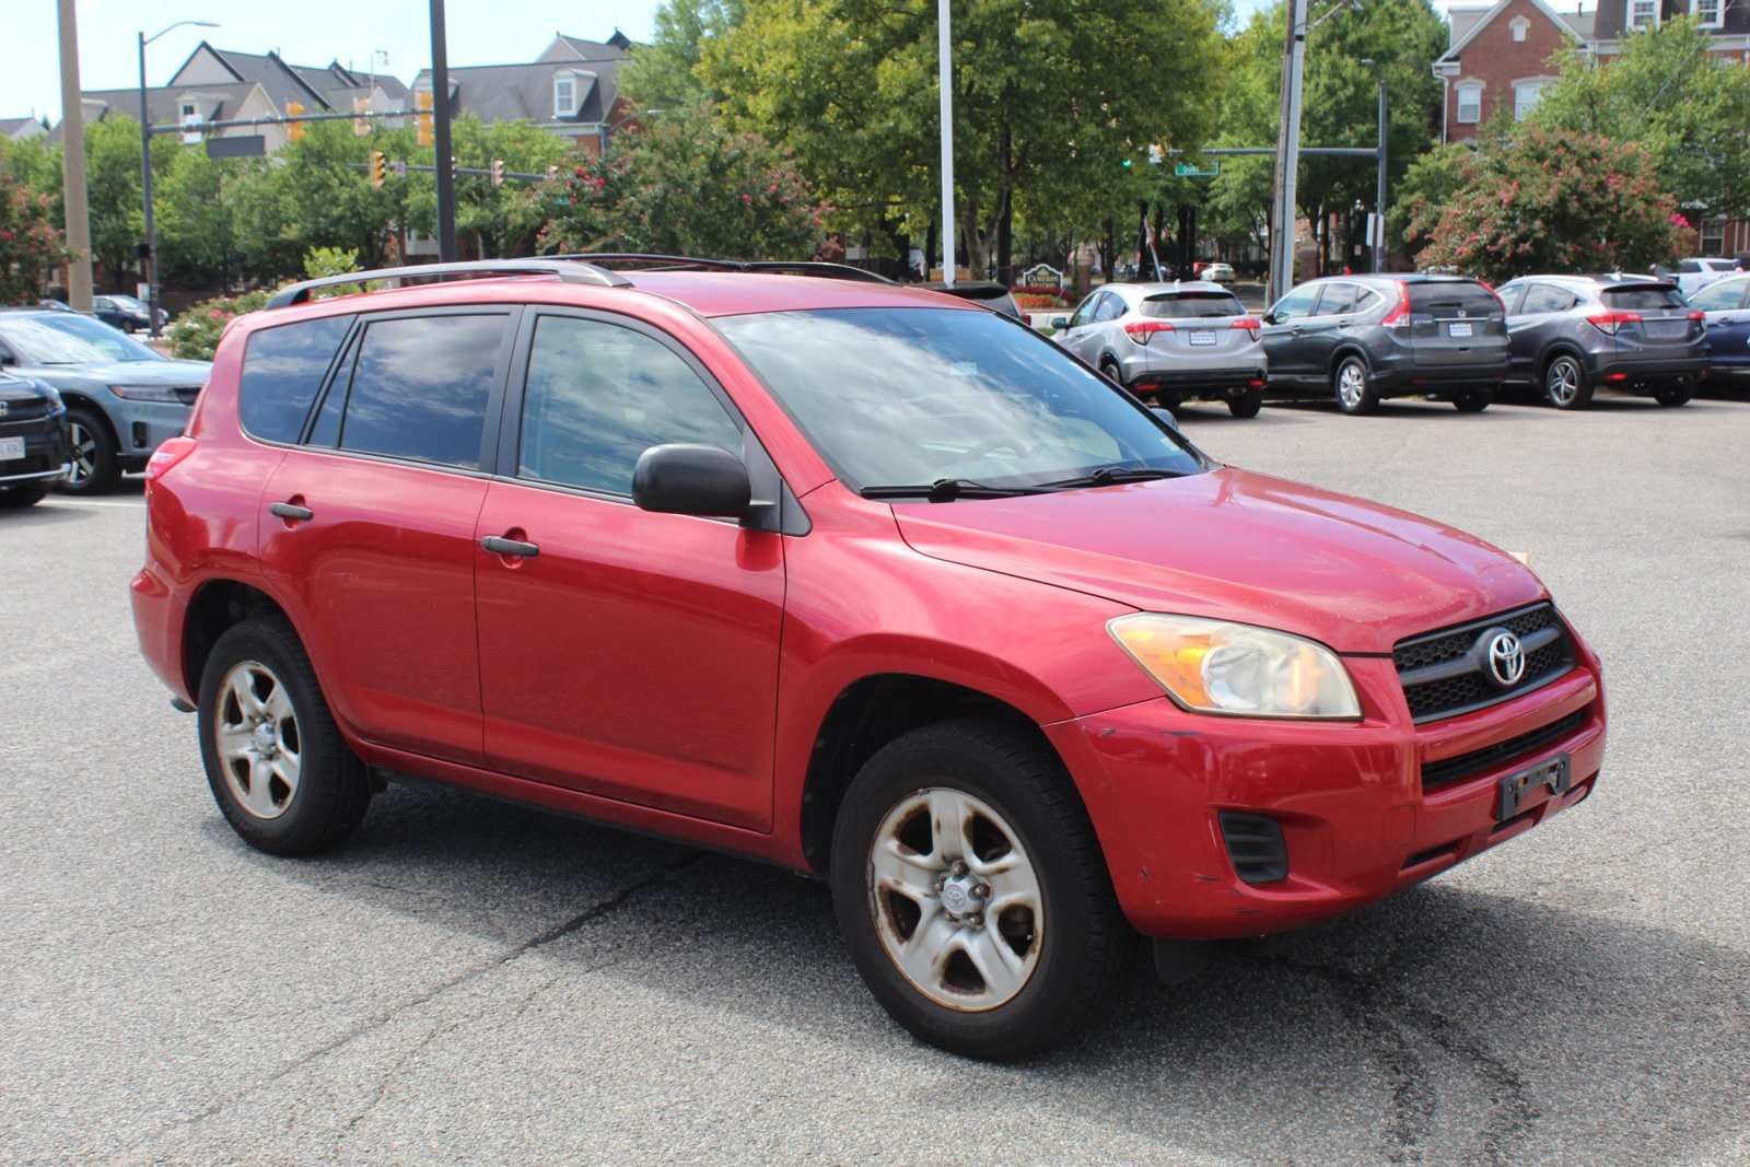
M201 672L200 737L214 800L250 847L308 856L364 819L364 765L341 738L285 619L234 625L214 644Z

